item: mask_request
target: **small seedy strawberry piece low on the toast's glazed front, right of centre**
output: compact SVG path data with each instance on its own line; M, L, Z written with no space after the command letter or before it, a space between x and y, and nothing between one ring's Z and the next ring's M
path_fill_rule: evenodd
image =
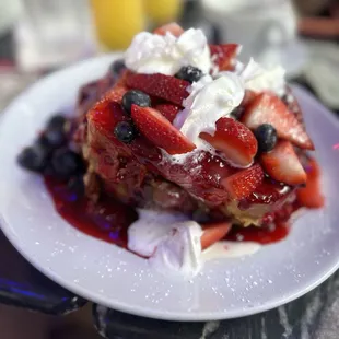
M230 196L234 199L247 198L264 180L264 171L259 164L242 170L222 180Z

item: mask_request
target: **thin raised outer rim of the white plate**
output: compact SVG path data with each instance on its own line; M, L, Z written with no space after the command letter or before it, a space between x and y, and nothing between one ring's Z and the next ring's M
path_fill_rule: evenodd
M103 55L100 57L91 58L87 60L83 60L81 62L77 62L74 65L71 65L60 71L54 72L51 74L48 74L47 77L44 77L43 79L35 82L33 85L28 86L23 93L21 93L19 96L16 96L3 110L1 119L0 119L0 131L2 128L2 124L4 121L4 117L8 113L11 113L11 107L16 104L16 102L22 101L23 97L30 94L31 91L34 91L36 86L42 85L44 82L51 81L54 77L60 75L60 73L67 73L72 71L72 69L78 67L83 67L86 63L90 62L100 62L101 59L106 58L118 58L121 54L110 54L110 55ZM320 102L318 102L307 90L300 85L293 85L293 89L296 90L296 92L303 92L303 94L306 94L312 102L312 105L318 106L322 110L324 110L324 115L329 119L329 121L334 125L336 125L336 128L339 128L339 121L336 119L336 117L330 114L329 109L323 105ZM326 112L326 113L325 113ZM1 126L2 125L2 126ZM25 246L22 246L20 242L17 242L16 236L13 232L11 232L10 225L4 220L4 217L2 215L0 211L0 227L4 235L8 237L8 239L11 242L11 244L14 246L14 248L28 261L31 262L37 270L43 272L46 277L49 279L56 281L61 287L66 288L67 290L70 290L71 292L85 297L89 301L95 302L100 305L114 308L120 312L125 312L128 314L132 314L136 316L142 316L148 318L154 318L154 319L163 319L163 320L176 320L176 322L208 322L208 320L223 320L223 319L232 319L237 317L244 317L249 316L258 313L262 313L265 311L269 311L276 307L279 307L281 305L284 305L304 294L312 291L316 287L318 287L322 282L324 282L326 279L328 279L338 268L339 268L339 257L331 261L331 265L327 266L326 270L320 270L318 274L314 276L314 279L308 279L307 282L301 284L299 289L295 290L294 293L290 293L289 295L279 296L277 294L276 297L272 297L269 302L262 303L262 305L256 305L255 307L250 308L242 308L242 309L227 309L222 312L199 312L199 314L195 314L194 312L160 312L155 311L153 312L151 308L145 309L145 307L139 306L139 305L131 305L121 303L119 301L114 301L113 299L105 299L105 294L97 293L96 291L91 291L90 289L83 288L81 284L74 284L71 281L68 281L67 279L62 278L61 274L57 274L52 270L49 270L47 267L43 264L39 264L39 260L34 258L30 255L30 253L25 252ZM85 235L87 236L87 235Z

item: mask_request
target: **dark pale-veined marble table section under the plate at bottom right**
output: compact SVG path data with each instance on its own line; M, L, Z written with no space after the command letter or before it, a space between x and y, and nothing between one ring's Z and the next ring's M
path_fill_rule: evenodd
M110 339L338 339L339 273L294 302L245 318L160 322L97 305L93 316L98 331Z

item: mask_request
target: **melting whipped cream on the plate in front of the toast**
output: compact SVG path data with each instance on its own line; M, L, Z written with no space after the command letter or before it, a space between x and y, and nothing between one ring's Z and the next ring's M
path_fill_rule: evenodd
M201 250L203 230L187 215L166 211L138 210L139 220L128 229L128 249L149 257L150 265L173 278L191 279L213 259L252 255L256 243L219 242Z

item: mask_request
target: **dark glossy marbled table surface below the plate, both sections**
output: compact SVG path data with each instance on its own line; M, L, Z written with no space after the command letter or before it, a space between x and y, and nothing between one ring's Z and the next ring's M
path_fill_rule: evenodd
M10 36L0 37L0 59L1 56L12 56ZM308 87L302 79L297 82ZM2 233L0 254L5 258L0 261L1 303L54 315L74 312L86 303L33 268ZM208 323L163 322L93 305L93 323L102 336L115 339L337 339L339 273L294 302L245 318Z

